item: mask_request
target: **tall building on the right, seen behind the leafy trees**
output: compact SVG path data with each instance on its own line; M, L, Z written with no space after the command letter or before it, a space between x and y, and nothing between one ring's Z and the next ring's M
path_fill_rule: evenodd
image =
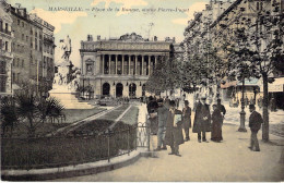
M267 22L268 26L270 22L283 19L283 0L227 1L226 5L217 11L221 9L220 5L217 5L218 3L223 3L224 5L224 2L211 0L205 10L196 13L194 20L189 21L189 25L185 29L185 61L194 60L192 57L197 54L210 54L211 52L209 50L214 49L214 51L216 51L214 53L221 59L223 65L229 65L229 56L232 53L229 50L237 50L245 47L251 50L259 49L260 52L265 52L265 49L269 48L269 42L275 38L273 33L283 29L283 27L275 26L274 24L271 24L271 28L263 26L263 22L267 21L263 20L264 17L270 19ZM218 13L214 13L214 11ZM251 36L251 40L240 40L237 37L239 30L246 32L247 35L255 36ZM253 45L256 38L258 38L259 48L256 47L256 44ZM282 36L282 40L284 36ZM277 49L283 51L284 45L282 45L282 48L280 47ZM268 54L271 54L271 52ZM203 61L204 60L206 59L203 59ZM208 62L210 64L212 60L208 59ZM262 65L263 64L269 65L269 62L267 62L267 64L264 62ZM226 69L226 66L223 68ZM270 69L271 66L267 68ZM283 64L280 64L279 66L273 68L273 71L269 75L269 77L275 77L275 81L277 81L275 85L281 86L279 87L281 88L279 90L271 90L273 87L270 85L270 97L274 95L273 93L277 93L276 96L281 97L276 97L276 99L280 101L283 100L284 96L282 87L284 83L281 83L281 81L283 81ZM229 82L226 77L218 78L220 82L222 80L226 81L226 84L222 84L221 86L223 90L222 96L225 97L224 99L240 99L241 90L237 89L240 88L237 83ZM255 100L261 97L263 95L261 90L263 85L259 83L261 82L256 82L253 86L251 84L245 85L247 88L245 96L252 97Z

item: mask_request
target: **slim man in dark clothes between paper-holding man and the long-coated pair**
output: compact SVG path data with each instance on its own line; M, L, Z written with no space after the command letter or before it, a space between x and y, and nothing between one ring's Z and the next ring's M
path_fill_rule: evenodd
M182 125L186 134L185 142L190 141L189 129L191 127L191 108L189 107L188 100L185 100L185 108L182 109Z

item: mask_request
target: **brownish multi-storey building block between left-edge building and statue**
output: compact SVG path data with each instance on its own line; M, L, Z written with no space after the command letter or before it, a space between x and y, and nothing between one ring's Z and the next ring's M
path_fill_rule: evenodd
M55 27L35 14L27 14L21 4L11 7L11 16L14 33L12 83L21 86L28 81L38 93L46 94L54 78Z

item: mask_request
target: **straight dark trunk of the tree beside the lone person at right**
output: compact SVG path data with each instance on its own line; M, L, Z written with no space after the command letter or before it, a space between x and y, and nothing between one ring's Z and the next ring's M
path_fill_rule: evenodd
M263 124L262 124L262 141L269 141L269 82L268 74L262 74L263 78Z

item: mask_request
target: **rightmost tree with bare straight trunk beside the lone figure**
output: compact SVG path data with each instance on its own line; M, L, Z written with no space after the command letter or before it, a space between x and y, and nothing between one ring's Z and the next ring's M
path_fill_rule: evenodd
M269 141L269 76L275 71L277 65L283 64L283 29L284 15L280 11L280 2L271 1L255 2L249 1L249 10L246 16L239 16L237 21L242 27L237 28L235 33L240 38L239 48L230 52L230 58L239 58L233 61L238 68L238 60L246 62L249 75L262 77L263 81L263 125L262 139ZM257 3L257 5L256 5ZM262 5L262 7L261 7ZM270 7L271 5L271 7ZM256 8L257 7L257 8ZM267 8L268 7L268 8ZM245 8L240 8L240 12L245 12ZM234 35L230 39L234 40ZM230 46L233 47L233 46ZM234 47L233 47L234 48Z

